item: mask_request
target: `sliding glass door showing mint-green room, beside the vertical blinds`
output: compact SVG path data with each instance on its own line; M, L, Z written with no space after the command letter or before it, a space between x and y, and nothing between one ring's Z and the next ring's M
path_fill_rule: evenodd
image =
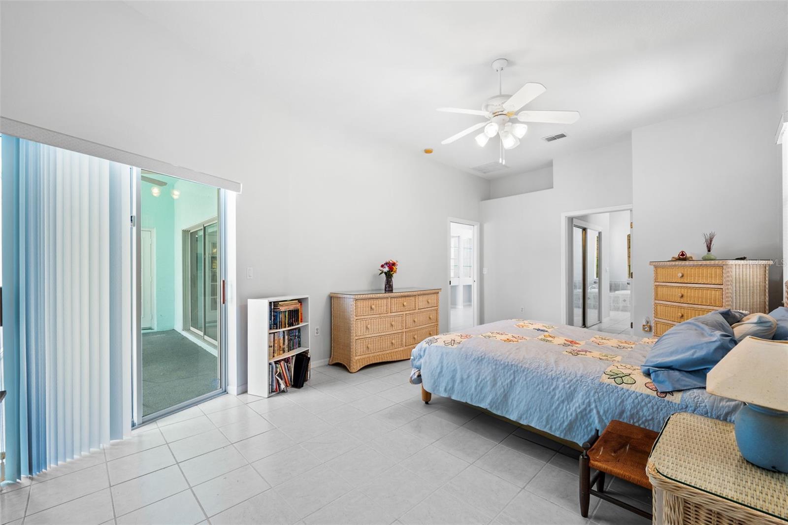
M136 424L225 389L221 192L146 171L138 185Z

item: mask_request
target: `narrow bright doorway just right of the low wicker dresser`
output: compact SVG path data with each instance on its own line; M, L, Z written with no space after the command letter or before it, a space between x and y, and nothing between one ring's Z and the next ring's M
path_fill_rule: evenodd
M478 222L449 220L449 330L478 325Z

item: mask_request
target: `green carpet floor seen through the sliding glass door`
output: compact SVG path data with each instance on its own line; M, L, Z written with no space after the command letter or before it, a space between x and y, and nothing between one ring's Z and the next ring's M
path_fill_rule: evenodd
M218 359L175 330L143 333L143 415L214 392Z

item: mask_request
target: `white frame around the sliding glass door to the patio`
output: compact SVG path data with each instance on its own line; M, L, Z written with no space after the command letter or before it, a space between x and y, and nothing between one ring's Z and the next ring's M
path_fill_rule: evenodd
M219 214L217 216L218 221L218 229L219 229L219 312L218 312L218 338L219 338L219 345L218 345L218 359L219 359L219 388L214 390L213 392L204 393L202 396L192 398L191 400L186 400L182 403L175 404L172 407L165 408L164 410L160 410L158 412L154 412L153 414L143 415L143 389L142 389L142 330L140 328L141 322L140 319L142 317L142 250L141 250L141 239L142 239L142 228L139 227L139 218L141 217L141 201L140 192L142 189L141 179L140 179L140 170L139 168L132 168L134 171L132 173L132 198L134 202L132 203L132 210L134 215L132 216L132 229L134 230L133 233L133 253L132 253L132 261L134 262L134 268L132 271L132 305L134 313L134 326L133 326L133 348L132 348L132 429L137 428L139 426L147 425L148 423L153 423L157 419L161 419L166 417L167 415L174 414L176 412L182 411L186 408L190 408L195 406L196 404L203 403L206 400L213 399L214 397L221 396L222 394L227 392L227 384L229 379L228 374L228 352L229 352L229 339L228 339L228 330L225 330L225 326L227 326L228 320L228 293L227 293L227 262L228 262L228 228L227 228L227 216L228 216L228 192L229 190L225 190L223 188L219 188L217 186L213 186L213 184L206 184L211 185L217 189L217 208L219 210ZM163 173L166 175L166 173ZM176 176L169 176L169 177L176 177ZM184 179L191 181L191 179ZM193 181L195 182L195 181ZM205 183L199 183L205 184ZM234 210L233 210L234 211ZM235 248L234 245L232 248ZM181 261L183 262L183 261ZM235 352L236 348L233 348L233 352Z

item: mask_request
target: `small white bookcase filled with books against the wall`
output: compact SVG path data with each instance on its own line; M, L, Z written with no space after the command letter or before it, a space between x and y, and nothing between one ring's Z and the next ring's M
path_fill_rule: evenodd
M304 370L300 356L309 356L309 296L250 299L247 314L247 392L259 397L286 393L297 384L297 369ZM294 321L293 326L271 328Z

